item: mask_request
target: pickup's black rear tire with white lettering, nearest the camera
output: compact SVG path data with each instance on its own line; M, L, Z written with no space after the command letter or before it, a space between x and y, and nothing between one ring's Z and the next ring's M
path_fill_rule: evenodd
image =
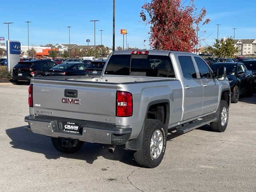
M152 152L150 152L150 144L153 145L151 142L151 138L154 134L154 132L161 132L162 133L162 139L159 141L159 146L161 148L161 151L159 155L157 155L155 152L154 147L152 147ZM159 135L161 136L159 132ZM154 168L158 166L163 157L164 157L164 152L166 150L166 138L167 138L167 128L166 126L160 121L160 120L155 120L155 119L146 119L145 124L144 124L144 136L143 136L143 141L142 141L142 149L140 151L136 151L134 155L134 160L136 161L137 164L139 164L142 167L146 168ZM158 144L158 141L156 141ZM156 157L154 157L156 155Z

